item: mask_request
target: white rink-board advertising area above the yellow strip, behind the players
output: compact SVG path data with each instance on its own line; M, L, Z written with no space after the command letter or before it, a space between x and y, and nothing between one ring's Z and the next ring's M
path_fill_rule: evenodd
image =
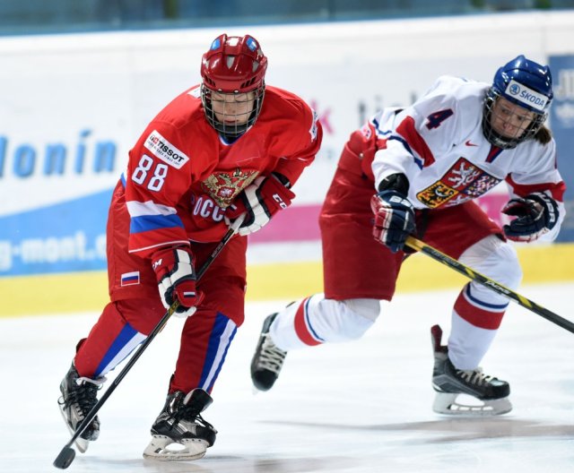
M265 81L306 100L324 129L315 162L294 187L296 202L254 235L252 246L318 241L317 215L344 142L380 107L409 105L443 74L491 82L500 64L524 52L501 41L495 31L485 35L491 28L486 19L465 19L462 29L445 29L444 22L249 30L269 57ZM524 33L521 47L546 60L547 44L533 34L532 25L517 21L507 28ZM238 28L227 32L245 34ZM200 81L201 56L220 33L200 29L0 39L0 278L106 268L108 206L128 150L161 107ZM428 49L413 47L422 41ZM552 128L561 170L567 182L574 182L569 156L574 149L574 64L572 56L552 56L551 61L557 82ZM574 185L570 200L573 192ZM480 203L500 221L507 198L501 185ZM563 232L569 241L574 238L572 221Z

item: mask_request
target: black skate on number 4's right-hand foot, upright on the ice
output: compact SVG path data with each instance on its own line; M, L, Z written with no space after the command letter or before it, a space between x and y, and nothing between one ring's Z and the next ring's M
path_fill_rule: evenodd
M434 349L432 387L437 391L432 409L439 414L473 417L498 416L512 409L509 401L510 386L482 369L457 370L448 359L448 348L440 345L442 331L439 325L431 328ZM474 402L463 403L465 395Z

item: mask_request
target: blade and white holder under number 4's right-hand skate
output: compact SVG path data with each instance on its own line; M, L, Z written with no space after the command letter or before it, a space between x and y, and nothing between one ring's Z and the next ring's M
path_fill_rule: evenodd
M463 403L458 398L467 398L480 404ZM498 400L478 400L460 393L437 392L432 410L445 416L493 417L507 414L512 410L509 398Z

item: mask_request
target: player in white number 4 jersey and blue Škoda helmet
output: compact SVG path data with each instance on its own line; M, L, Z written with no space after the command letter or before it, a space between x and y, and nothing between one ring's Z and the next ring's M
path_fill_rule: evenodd
M544 127L551 101L549 68L517 56L491 84L441 77L413 106L385 109L352 133L319 218L325 294L265 319L251 364L255 386L273 386L288 350L360 338L379 299L395 293L410 234L517 288L522 271L507 238L552 239L564 217L565 186ZM502 212L515 219L499 228L474 199L503 180L512 195ZM511 409L509 383L479 367L508 304L469 282L452 310L448 346L432 328L435 411ZM461 393L474 396L472 407Z

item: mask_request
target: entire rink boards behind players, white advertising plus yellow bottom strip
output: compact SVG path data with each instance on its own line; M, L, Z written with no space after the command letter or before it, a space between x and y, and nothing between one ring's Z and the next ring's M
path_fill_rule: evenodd
M349 133L380 107L412 103L441 74L491 81L492 71L518 53L549 62L556 89L552 133L571 188L573 22L574 12L536 12L250 29L270 58L268 83L305 99L324 136L294 188L296 202L251 240L261 246L313 241L316 250L270 250L270 258L248 259L248 300L321 290L318 209ZM5 100L9 120L0 124L0 317L99 311L106 303L106 219L127 151L167 101L200 80L196 60L219 34L184 29L0 39L4 96L18 98ZM421 44L424 50L416 47ZM326 54L327 45L336 54ZM361 87L352 86L357 73ZM571 199L567 194L573 211L562 224L563 243L519 248L526 283L574 280ZM500 208L507 200L500 186L479 204L504 224ZM412 258L398 290L457 287L461 278L429 258Z

